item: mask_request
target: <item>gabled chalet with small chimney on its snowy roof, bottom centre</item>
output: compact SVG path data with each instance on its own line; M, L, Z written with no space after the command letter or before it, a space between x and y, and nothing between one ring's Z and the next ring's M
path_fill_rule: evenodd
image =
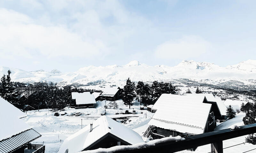
M75 153L144 142L141 136L107 116L102 116L65 139L58 153Z

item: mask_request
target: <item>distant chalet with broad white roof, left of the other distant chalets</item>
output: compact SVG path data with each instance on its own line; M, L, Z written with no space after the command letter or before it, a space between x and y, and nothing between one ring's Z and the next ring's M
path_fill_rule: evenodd
M94 107L93 104L96 104L95 98L93 94L90 92L72 92L72 103L71 107L74 108L87 108L87 107Z

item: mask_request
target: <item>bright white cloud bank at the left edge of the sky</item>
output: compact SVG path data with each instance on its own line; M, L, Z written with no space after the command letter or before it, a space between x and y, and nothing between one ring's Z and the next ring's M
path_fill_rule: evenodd
M1 55L32 57L38 52L46 57L70 56L90 58L104 54L108 48L100 40L90 40L70 32L64 26L43 26L33 23L28 16L0 9ZM8 19L7 19L8 18Z

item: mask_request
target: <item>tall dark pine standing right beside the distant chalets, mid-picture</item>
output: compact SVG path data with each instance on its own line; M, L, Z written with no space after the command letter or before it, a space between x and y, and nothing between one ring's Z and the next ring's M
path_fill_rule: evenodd
M135 96L135 83L128 78L126 80L126 85L124 86L124 92L123 92L123 101L125 105L129 105L129 108L131 108L133 97Z

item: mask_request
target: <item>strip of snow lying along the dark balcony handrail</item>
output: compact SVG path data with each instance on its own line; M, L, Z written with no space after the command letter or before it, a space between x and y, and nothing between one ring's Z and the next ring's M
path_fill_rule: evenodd
M137 143L134 145L127 145L127 146L114 146L111 148L99 148L99 149L95 149L95 150L87 150L87 151L82 151L80 153L94 153L94 152L101 152L101 153L108 153L108 152L114 152L114 151L123 151L123 150L132 150L132 149L140 149L140 148L148 148L150 146L155 146L159 143L163 143L163 142L172 142L172 141L182 141L185 140L185 138L181 138L181 136L176 136L176 137L165 137L162 139L156 139L156 140L152 140L149 142L141 142L141 143Z

